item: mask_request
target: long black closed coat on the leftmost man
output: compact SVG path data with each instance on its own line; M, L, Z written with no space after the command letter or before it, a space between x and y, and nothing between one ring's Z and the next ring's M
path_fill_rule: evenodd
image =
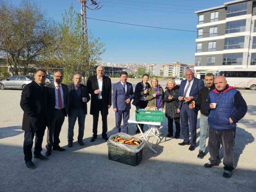
M24 111L22 130L36 132L46 128L44 87L34 80L21 93L20 107Z

